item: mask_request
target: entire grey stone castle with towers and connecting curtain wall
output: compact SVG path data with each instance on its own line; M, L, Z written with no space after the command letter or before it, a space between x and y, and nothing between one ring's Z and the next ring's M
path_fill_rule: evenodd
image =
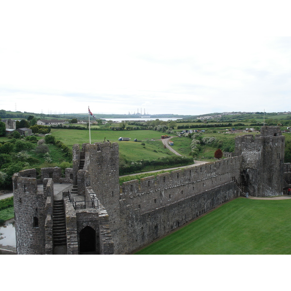
M130 254L238 196L284 194L279 127L236 138L232 157L119 185L117 143L73 146L73 168L13 176L18 254ZM54 187L69 187L54 194Z

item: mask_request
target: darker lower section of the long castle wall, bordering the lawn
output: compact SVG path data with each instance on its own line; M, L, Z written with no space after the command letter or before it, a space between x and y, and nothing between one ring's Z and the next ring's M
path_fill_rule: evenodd
M120 215L124 218L123 248L120 254L128 254L169 234L172 230L236 198L240 189L234 182L214 187L209 191L181 198L163 207L142 212L132 208L126 199L120 201Z

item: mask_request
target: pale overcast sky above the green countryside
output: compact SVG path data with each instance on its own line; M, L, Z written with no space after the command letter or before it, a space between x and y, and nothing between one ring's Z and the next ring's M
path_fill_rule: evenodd
M291 111L288 1L2 1L0 109Z

